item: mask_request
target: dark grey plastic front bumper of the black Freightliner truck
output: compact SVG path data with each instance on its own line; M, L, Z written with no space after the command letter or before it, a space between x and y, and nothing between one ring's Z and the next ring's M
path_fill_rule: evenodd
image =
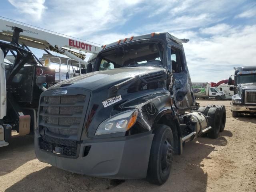
M88 140L80 144L78 158L67 158L41 150L35 135L38 160L63 170L114 179L145 178L154 134L138 134L123 138ZM84 156L86 146L91 146Z

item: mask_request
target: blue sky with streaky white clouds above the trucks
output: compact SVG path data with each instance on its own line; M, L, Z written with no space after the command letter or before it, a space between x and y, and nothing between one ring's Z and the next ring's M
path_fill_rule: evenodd
M184 49L194 82L218 82L233 67L256 65L256 0L2 0L0 10L99 44L150 32L189 38Z

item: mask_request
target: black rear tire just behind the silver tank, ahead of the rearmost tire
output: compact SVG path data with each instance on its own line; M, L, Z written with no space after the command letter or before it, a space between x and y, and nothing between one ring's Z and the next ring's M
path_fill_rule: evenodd
M209 138L216 139L220 132L220 110L212 107L209 109L207 116L209 125L212 127L208 132L208 136Z

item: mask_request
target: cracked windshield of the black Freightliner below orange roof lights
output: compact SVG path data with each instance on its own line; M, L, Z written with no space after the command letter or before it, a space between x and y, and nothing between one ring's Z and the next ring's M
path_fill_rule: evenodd
M114 48L100 55L96 70L120 67L162 65L164 45L158 42L143 42Z

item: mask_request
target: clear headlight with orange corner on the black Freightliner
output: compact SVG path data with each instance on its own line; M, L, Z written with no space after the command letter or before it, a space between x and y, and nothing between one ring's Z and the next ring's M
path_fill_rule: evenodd
M118 113L102 122L98 126L95 135L126 132L135 124L137 117L137 110L128 110Z

